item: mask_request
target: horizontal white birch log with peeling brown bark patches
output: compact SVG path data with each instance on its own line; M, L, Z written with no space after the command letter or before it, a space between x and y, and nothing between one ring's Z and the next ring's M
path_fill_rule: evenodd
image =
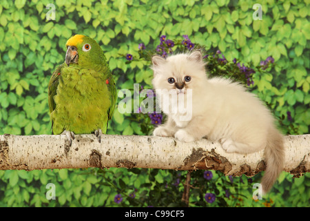
M0 135L0 170L76 168L153 168L218 170L225 175L253 176L265 171L264 151L226 153L219 143L183 143L171 137L137 135ZM310 171L310 135L285 137L285 168L299 176Z

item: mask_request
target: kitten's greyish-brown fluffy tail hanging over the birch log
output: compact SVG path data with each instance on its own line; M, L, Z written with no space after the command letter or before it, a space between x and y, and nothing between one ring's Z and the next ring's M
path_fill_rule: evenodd
M269 130L267 137L265 160L267 163L267 169L261 182L263 193L269 192L285 164L283 136L276 128L273 127Z

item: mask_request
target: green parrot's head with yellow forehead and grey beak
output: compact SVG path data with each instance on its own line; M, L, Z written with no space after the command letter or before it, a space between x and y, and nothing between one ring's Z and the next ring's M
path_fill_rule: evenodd
M97 65L105 64L103 50L94 39L85 35L74 35L65 44L67 53L65 63L75 64L81 68L94 68Z

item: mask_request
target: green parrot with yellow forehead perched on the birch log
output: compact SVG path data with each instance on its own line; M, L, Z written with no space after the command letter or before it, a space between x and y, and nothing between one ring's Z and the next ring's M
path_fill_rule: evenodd
M70 146L74 134L107 131L116 102L115 81L99 44L85 35L72 36L65 45L65 62L48 84L48 106L53 134L65 134Z

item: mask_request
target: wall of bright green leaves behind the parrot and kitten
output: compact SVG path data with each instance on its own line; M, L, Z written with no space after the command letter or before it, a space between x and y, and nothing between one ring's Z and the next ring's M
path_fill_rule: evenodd
M45 8L54 3L55 21ZM254 3L262 5L262 20L254 21ZM310 1L7 1L0 3L0 134L50 134L48 81L63 62L65 42L83 34L101 44L116 86L151 88L152 71L146 61L125 64L121 55L138 57L138 44L149 49L158 38L192 42L209 51L221 50L227 60L237 58L254 66L268 56L275 59L270 73L254 74L253 92L282 117L284 133L306 134L310 125ZM287 119L291 112L293 122ZM114 113L108 133L142 135L134 114ZM292 129L290 125L293 125ZM253 177L228 177L213 171L192 173L189 206L309 206L310 175L293 179L282 173L267 199L251 199ZM0 171L0 206L182 206L185 171L156 169L87 169ZM174 185L180 179L180 184ZM56 185L56 200L47 200L45 185ZM225 198L229 189L231 196ZM205 193L216 194L208 204ZM123 201L114 202L121 193ZM129 195L135 194L135 198Z

